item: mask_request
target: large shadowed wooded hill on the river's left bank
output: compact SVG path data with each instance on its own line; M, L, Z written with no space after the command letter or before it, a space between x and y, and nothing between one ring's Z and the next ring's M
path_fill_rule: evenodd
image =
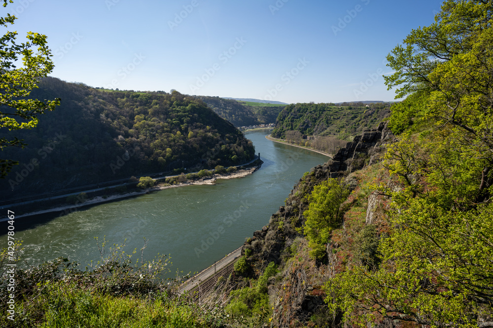
M35 128L12 133L28 146L2 152L20 161L0 181L3 197L182 167L228 166L254 156L251 142L230 122L177 91L104 91L46 78L32 95L60 97L61 105L40 116Z

